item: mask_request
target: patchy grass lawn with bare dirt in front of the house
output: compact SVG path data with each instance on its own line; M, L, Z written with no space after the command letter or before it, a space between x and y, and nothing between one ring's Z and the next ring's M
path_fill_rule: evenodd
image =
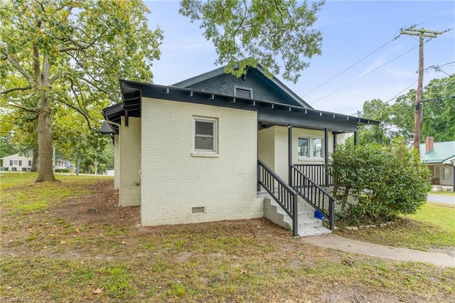
M0 175L2 299L451 302L455 297L455 268L318 248L265 219L141 228L139 208L116 207L112 179L58 176L60 182L35 184L34 177ZM438 226L447 228L450 217L443 216Z

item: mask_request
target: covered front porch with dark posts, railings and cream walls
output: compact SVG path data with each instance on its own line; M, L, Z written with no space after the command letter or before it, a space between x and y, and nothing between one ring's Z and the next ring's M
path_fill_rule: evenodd
M258 111L258 190L265 190L298 229L298 202L304 201L334 228L334 201L328 191L331 153L346 134L357 142L358 127L378 121L304 109L301 112Z

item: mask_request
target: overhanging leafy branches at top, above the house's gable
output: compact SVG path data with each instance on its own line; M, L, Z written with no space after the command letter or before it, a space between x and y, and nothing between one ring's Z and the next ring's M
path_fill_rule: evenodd
M240 77L247 66L269 76L284 68L283 78L296 83L309 66L305 58L321 55L322 35L311 28L325 1L183 0L180 14L200 21L218 53L216 63ZM284 65L284 66L283 66Z

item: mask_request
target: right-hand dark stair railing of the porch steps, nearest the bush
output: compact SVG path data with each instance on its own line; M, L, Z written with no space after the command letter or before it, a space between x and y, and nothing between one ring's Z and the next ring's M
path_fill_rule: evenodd
M297 165L291 164L291 186L311 206L328 219L330 229L335 227L335 199L305 174Z

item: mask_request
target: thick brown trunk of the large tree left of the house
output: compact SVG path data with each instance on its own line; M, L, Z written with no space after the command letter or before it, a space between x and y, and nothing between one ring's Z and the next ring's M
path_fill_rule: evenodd
M36 182L55 181L52 163L50 101L45 95L38 103L38 163Z

